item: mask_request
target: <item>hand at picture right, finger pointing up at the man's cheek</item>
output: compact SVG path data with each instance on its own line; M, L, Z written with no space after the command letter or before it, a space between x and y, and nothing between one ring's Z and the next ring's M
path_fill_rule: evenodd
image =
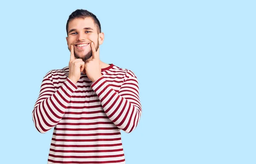
M90 43L90 46L93 53L92 59L84 64L84 69L90 81L94 82L98 78L100 78L102 74L101 74L101 66L100 66L100 60L99 60L99 49L98 51L96 51L93 42Z

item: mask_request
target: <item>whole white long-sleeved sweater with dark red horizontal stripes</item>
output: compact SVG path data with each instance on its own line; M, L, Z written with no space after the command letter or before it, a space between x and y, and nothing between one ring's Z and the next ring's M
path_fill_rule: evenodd
M48 164L125 164L120 129L133 131L142 113L136 76L113 64L95 82L68 75L45 75L32 112L39 132L54 127Z

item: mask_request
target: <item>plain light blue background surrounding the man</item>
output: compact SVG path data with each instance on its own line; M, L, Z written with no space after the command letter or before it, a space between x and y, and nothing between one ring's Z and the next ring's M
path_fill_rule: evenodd
M143 114L127 164L256 164L256 3L251 0L0 3L1 164L46 164L32 121L41 81L68 65L66 22L96 14L100 58L131 69Z

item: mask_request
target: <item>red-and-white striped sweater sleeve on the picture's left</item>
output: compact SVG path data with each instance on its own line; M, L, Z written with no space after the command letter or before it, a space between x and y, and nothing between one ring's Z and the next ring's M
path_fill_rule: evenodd
M49 78L51 73L47 75L42 81L39 97L32 112L35 127L41 133L47 132L61 121L71 95L77 89L77 86L67 78L63 85L55 91Z

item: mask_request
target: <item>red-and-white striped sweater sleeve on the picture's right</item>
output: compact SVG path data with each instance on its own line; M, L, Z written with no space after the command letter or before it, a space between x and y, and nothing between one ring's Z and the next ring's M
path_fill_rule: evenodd
M139 85L133 72L128 71L119 92L116 92L102 76L91 85L101 101L108 118L119 128L133 131L142 114Z

